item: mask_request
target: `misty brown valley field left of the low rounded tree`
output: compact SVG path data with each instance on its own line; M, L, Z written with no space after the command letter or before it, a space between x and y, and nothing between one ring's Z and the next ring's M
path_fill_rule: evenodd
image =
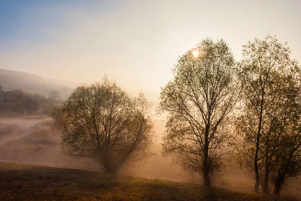
M0 160L56 167L99 170L89 160L75 160L60 150L59 136L51 129L49 117L0 118Z

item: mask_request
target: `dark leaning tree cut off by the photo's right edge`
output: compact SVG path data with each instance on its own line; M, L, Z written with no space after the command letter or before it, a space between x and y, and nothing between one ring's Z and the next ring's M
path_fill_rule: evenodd
M290 111L287 124L283 128L283 135L279 139L278 150L275 154L275 167L271 169L270 181L274 184L274 195L278 196L282 185L290 177L301 174L301 70L296 62L286 78L287 99Z

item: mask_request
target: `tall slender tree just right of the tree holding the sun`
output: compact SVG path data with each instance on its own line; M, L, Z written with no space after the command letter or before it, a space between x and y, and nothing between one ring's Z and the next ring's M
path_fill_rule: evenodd
M295 65L289 48L275 37L255 39L243 46L239 80L242 88L242 115L237 129L242 137L241 165L255 173L254 191L268 193L269 173L278 158L279 142L290 122L293 100L289 73Z

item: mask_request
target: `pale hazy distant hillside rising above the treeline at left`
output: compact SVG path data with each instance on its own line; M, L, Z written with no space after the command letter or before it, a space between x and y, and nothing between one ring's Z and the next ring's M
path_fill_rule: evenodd
M41 77L25 72L0 69L0 86L4 90L20 88L32 93L48 95L49 91L57 90L64 97L70 94L79 83Z

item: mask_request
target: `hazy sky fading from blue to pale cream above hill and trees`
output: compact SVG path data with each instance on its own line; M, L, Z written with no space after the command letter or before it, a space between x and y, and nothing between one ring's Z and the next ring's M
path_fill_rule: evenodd
M92 82L104 74L152 100L179 55L210 36L237 59L268 34L301 62L301 1L0 0L0 68Z

